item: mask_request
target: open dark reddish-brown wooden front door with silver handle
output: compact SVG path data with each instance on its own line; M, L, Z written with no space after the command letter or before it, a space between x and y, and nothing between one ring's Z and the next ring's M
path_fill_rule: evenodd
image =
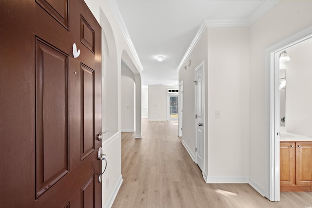
M0 64L0 208L100 208L101 28L84 1L1 0Z

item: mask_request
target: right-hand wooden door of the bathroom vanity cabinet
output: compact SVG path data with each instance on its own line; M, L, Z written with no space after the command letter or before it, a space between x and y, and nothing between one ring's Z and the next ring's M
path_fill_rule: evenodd
M312 142L296 142L296 184L312 185Z

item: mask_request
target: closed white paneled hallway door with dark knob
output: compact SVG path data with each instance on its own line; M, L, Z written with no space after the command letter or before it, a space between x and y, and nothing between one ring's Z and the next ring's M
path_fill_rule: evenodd
M195 125L196 125L196 163L203 171L204 158L204 71L203 65L195 70Z

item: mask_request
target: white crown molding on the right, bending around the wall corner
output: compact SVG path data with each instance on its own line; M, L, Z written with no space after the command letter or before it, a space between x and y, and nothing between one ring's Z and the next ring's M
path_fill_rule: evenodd
M222 20L209 20L204 19L198 29L195 37L193 38L189 48L185 52L184 56L182 57L176 71L180 71L182 69L183 63L186 61L187 57L190 56L191 52L193 51L196 43L198 42L199 38L205 32L207 27L238 27L238 26L250 26L253 24L257 19L259 19L265 12L267 12L273 5L275 5L280 0L266 0L257 10L255 10L248 18L246 19L222 19Z

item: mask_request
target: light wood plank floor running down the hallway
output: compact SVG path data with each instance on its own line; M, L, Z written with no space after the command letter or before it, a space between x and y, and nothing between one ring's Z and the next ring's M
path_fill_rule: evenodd
M270 202L248 184L206 184L176 121L143 119L142 133L122 133L124 181L113 208L312 207L312 192L281 192L280 202Z

